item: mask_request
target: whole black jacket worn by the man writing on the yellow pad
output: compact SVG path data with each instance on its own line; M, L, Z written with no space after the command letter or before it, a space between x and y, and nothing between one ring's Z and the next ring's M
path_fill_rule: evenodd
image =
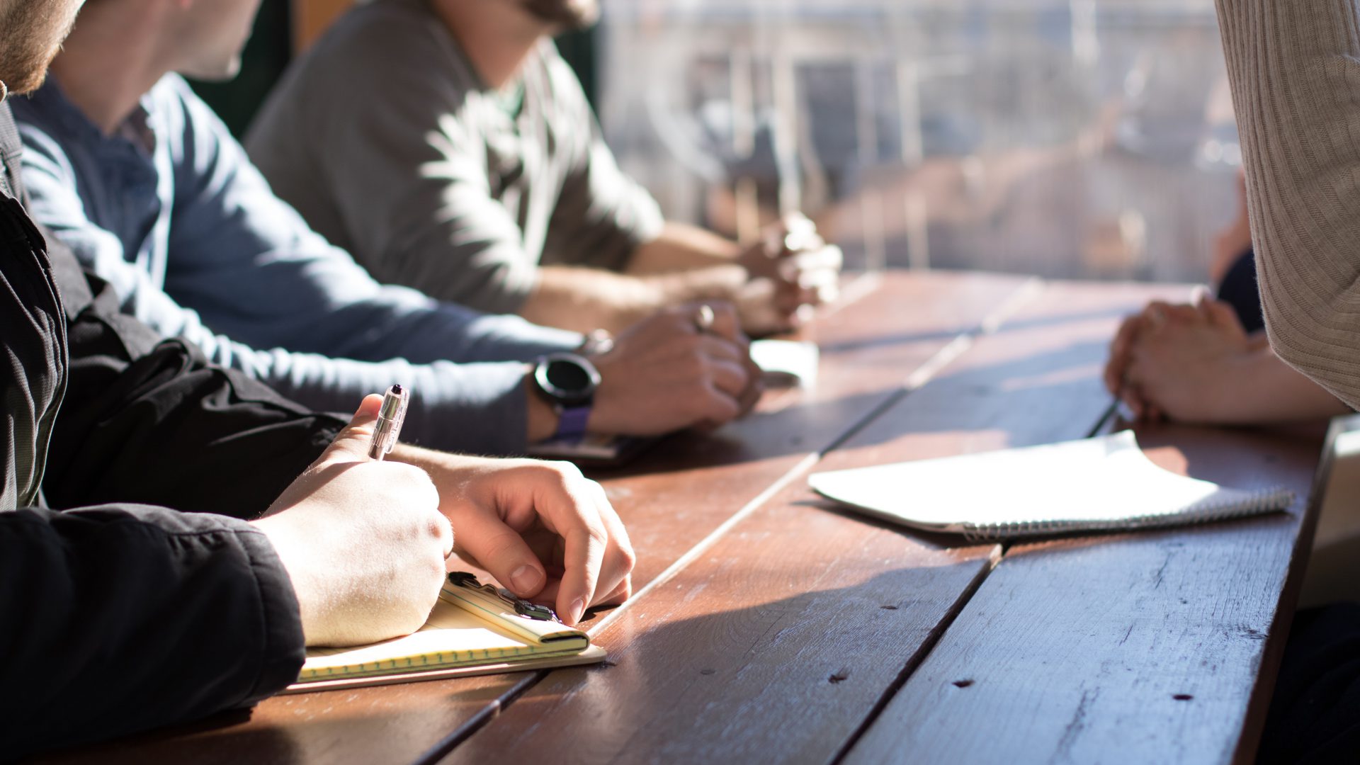
M343 422L120 313L29 219L0 103L0 761L246 706L298 603L245 519Z

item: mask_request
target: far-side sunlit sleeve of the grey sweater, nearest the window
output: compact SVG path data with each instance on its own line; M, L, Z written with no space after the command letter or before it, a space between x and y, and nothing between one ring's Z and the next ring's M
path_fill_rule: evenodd
M544 263L623 271L639 246L661 235L661 208L619 169L575 74L551 44L544 50L556 112L549 129L560 133L570 125L556 144L570 147L571 159L548 225Z

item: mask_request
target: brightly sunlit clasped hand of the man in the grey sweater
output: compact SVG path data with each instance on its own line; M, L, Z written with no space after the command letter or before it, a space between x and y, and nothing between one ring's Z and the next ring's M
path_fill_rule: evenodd
M804 306L836 298L843 260L840 248L827 244L801 214L771 226L738 260L749 276L736 295L741 325L753 333L796 328Z

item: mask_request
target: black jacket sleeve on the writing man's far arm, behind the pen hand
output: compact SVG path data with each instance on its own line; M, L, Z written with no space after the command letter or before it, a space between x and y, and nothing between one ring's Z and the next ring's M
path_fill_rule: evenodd
M57 242L52 264L71 358L42 483L52 506L256 517L344 426L209 365L189 343L162 342Z

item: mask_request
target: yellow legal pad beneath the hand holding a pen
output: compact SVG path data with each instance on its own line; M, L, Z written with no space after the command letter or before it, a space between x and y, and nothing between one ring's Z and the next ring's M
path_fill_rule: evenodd
M310 648L288 691L442 679L541 667L589 664L605 657L590 637L556 619L515 613L513 600L446 581L420 630L358 648Z

